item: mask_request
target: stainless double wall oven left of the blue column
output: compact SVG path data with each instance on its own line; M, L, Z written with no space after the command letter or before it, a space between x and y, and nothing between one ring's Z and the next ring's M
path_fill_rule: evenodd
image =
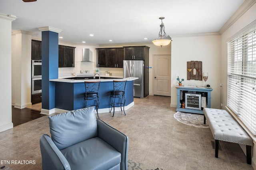
M31 68L31 93L42 93L42 60L32 60Z

